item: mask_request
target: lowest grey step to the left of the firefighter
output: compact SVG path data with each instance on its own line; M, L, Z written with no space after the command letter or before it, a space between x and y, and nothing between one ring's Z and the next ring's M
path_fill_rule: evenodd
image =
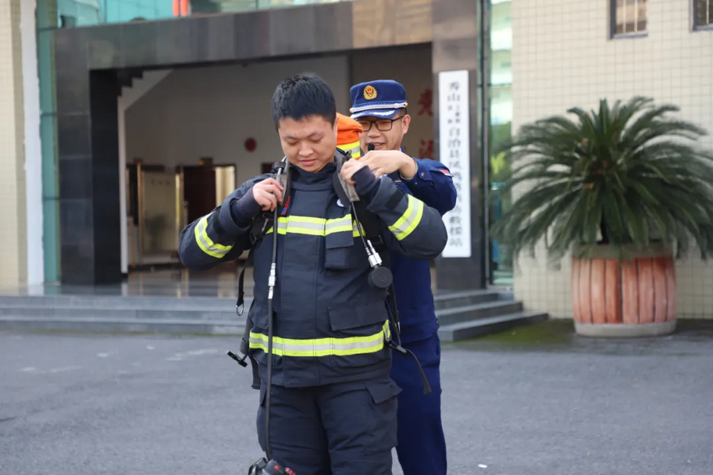
M0 330L66 330L93 332L142 333L192 333L207 335L242 335L245 320L200 321L180 319L143 318L46 318L27 316L0 316Z

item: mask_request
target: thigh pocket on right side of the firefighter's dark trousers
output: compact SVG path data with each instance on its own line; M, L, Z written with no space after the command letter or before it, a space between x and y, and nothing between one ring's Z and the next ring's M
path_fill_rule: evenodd
M399 393L401 388L391 378L365 382L369 392L369 414L367 418L371 431L366 454L379 454L396 447L397 416L399 412Z

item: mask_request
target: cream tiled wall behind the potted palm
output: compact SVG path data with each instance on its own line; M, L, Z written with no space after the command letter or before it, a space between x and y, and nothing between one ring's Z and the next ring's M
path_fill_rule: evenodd
M608 0L513 1L513 131L526 122L646 95L679 105L713 148L713 31L692 31L690 2L649 0L647 36L609 38ZM713 261L677 263L678 315L713 318ZM570 261L548 268L544 247L521 259L515 295L528 308L571 318Z

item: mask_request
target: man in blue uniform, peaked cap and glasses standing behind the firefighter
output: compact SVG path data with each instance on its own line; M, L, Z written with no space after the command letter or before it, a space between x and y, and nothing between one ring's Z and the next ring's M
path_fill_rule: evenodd
M404 86L394 80L373 80L352 86L352 118L361 124L359 159L377 177L386 175L406 194L433 207L441 215L456 206L451 172L440 162L404 153L401 142L411 117ZM393 254L393 253L391 253ZM396 355L391 377L401 387L399 444L396 451L405 475L445 475L446 440L441 424L441 342L431 292L431 269L426 259L391 256L396 306L401 319L401 344L419 358L433 392L424 395L414 361Z

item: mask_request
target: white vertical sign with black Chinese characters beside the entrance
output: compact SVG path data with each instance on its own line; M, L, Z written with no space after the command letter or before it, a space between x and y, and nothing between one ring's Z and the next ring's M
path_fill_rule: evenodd
M456 207L443 216L448 244L443 257L471 257L471 135L468 71L438 73L440 161L451 170Z

